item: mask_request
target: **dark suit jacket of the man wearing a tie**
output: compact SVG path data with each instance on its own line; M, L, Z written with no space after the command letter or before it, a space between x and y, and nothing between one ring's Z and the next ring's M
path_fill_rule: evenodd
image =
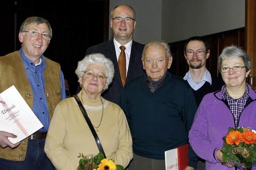
M141 62L141 55L142 55L143 48L144 48L144 45L132 41L132 48L131 48L128 72L126 76L126 82L136 77L139 77L144 73L142 62ZM115 50L113 39L109 40L108 42L100 43L98 45L89 47L86 50L86 55L91 53L102 53L107 58L112 60L114 64L114 69L115 69L114 79L113 79L113 82L109 85L108 89L102 93L102 96L109 101L119 104L120 93L123 89L123 85L122 85L120 72L118 68L118 61L116 59L116 50Z

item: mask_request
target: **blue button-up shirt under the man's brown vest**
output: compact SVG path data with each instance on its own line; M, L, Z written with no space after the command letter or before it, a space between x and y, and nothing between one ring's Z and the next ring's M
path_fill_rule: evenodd
M33 112L39 121L44 125L37 132L46 132L50 124L50 116L48 111L48 103L44 93L44 68L46 63L44 56L40 58L39 64L35 65L23 52L23 49L20 49L20 55L26 70L28 81L33 91ZM60 71L60 84L61 84L61 96L62 100L66 99L65 92L65 81L62 71Z

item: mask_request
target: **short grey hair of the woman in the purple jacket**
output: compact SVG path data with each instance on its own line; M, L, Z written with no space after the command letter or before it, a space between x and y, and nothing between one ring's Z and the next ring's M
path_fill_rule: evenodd
M231 45L228 47L225 47L222 50L222 53L220 54L218 58L218 69L221 72L221 64L223 60L226 59L233 59L233 58L238 58L241 57L244 61L244 66L246 71L249 71L251 69L251 59L249 55L242 50L240 47L237 47L235 45Z

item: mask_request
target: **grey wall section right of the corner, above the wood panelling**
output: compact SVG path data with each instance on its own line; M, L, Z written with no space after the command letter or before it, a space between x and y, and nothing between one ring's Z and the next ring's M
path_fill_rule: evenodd
M244 27L245 0L162 0L162 39L185 40Z

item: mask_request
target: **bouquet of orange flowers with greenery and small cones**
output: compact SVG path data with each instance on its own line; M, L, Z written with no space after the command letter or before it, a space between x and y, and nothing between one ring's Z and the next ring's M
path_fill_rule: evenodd
M222 138L224 145L222 162L233 163L238 167L251 168L256 164L256 131L250 128L229 128Z

